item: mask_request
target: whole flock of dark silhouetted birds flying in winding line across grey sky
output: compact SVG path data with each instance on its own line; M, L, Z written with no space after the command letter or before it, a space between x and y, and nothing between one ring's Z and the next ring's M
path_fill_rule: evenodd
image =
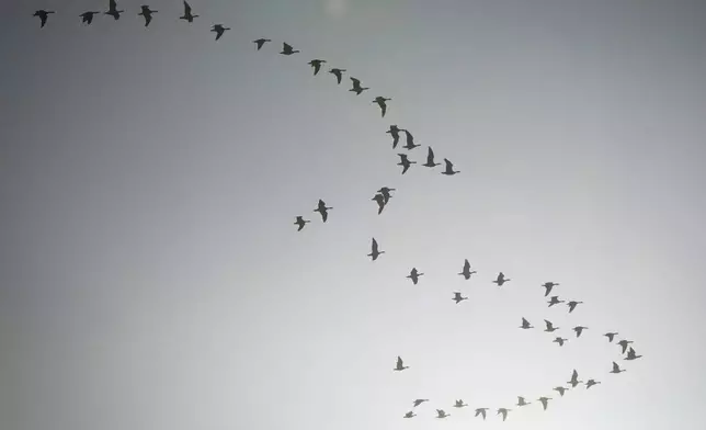
M117 8L118 8L118 5L117 5L116 0L109 0L109 9L106 11L103 11L103 12L100 12L100 11L87 11L87 12L81 13L79 15L79 18L81 18L81 21L87 25L91 25L93 23L94 16L100 15L101 13L104 14L104 15L112 16L115 21L117 21L117 20L121 19L121 15L123 13L125 13L124 10L119 10ZM47 24L48 16L50 14L54 14L54 13L56 13L56 12L47 11L47 10L38 10L38 11L34 12L33 16L39 18L41 27L44 27ZM158 11L151 10L149 8L149 5L141 5L140 7L140 12L137 15L143 16L143 19L145 20L145 26L149 26L149 24L152 22L152 15L155 13L158 13ZM196 18L198 18L198 15L193 13L191 5L186 1L183 1L183 15L179 16L179 19L183 20L183 21L185 21L187 23L193 23L194 19L196 19ZM210 31L215 33L215 39L216 41L219 41L223 37L224 33L227 32L228 30L230 30L230 27L227 27L224 24L214 24L212 26L212 29L210 29ZM257 50L262 49L262 47L266 43L270 43L270 42L272 42L272 41L269 39L269 38L258 38L255 41L252 41L252 43L255 44ZM287 43L282 44L282 52L280 52L280 54L286 55L286 56L291 56L291 55L298 54L298 53L299 53L298 49L294 49L294 47L292 45L287 44ZM314 75L316 76L316 75L319 73L319 71L321 70L322 65L326 64L326 63L327 61L323 60L323 59L316 58L316 59L310 60L308 63L308 65L311 66L311 68L314 69ZM331 69L329 69L328 72L333 75L333 77L335 78L335 81L337 81L338 84L341 84L341 82L343 80L343 75L346 72L346 69L331 68ZM349 91L354 92L356 95L360 95L363 91L369 90L369 88L363 87L361 84L360 79L350 77L350 80L351 80L351 89ZM383 117L385 117L385 114L387 113L387 108L388 108L387 102L388 101L391 101L391 99L385 98L385 97L376 97L373 100L373 103L377 104L379 106L380 114L382 114ZM399 128L397 125L390 125L389 129L386 132L386 134L389 134L390 137L392 138L392 149L397 148L397 146L399 144L399 140L400 140L400 134L401 133L405 133L405 138L406 138L405 139L406 143L402 146L402 148L407 149L408 151L411 151L412 149L421 146L421 145L414 144L414 136L408 129ZM401 170L402 174L407 173L407 171L410 169L410 167L412 165L417 163L417 161L410 160L407 154L400 152L400 154L398 154L398 156L400 158L400 162L398 163L398 166L400 166L402 168L402 170ZM435 168L436 166L441 166L441 163L434 161L434 151L433 151L433 149L431 147L428 147L426 162L424 162L422 166L424 166L426 168ZM454 176L454 174L459 173L459 171L454 170L454 165L448 159L444 159L444 170L442 170L441 173L446 174L446 176ZM385 208L385 206L389 203L390 199L392 197L392 195L390 193L392 191L396 191L396 190L394 188L382 186L379 190L377 190L377 192L373 196L373 199L371 199L372 201L374 201L377 204L377 213L378 213L378 215L383 213L383 210ZM317 204L317 207L314 210L314 212L318 212L320 214L320 216L321 216L321 220L323 223L326 223L328 217L329 217L329 211L331 211L331 210L333 210L333 207L327 206L327 203L323 200L319 200L319 202ZM310 220L305 219L304 216L296 216L296 220L295 220L294 224L297 226L297 231L300 231L300 230L304 229L304 227L308 223L310 223ZM371 244L371 252L367 256L371 258L371 260L376 261L383 253L385 253L385 251L380 250L380 247L377 244L377 240L375 240L375 238L373 238L372 244ZM466 281L468 281L468 280L470 280L471 275L474 275L474 274L477 274L477 271L471 270L470 263L466 259L464 261L464 265L462 268L462 271L458 272L458 275L464 276L464 279ZM414 285L418 285L418 283L420 282L420 276L422 276L422 275L424 275L424 273L420 272L417 268L412 268L410 270L410 273L406 278L408 278ZM502 287L506 282L510 282L510 281L511 281L511 279L505 278L504 273L500 272L500 273L498 273L498 275L496 276L494 281L492 281L492 282L494 284L497 284L498 287ZM545 288L544 296L549 297L549 301L547 302L548 307L553 307L553 306L556 306L556 305L563 304L563 305L566 305L568 307L568 313L571 314L577 308L577 306L583 304L583 302L580 302L580 301L569 301L569 302L567 302L567 301L560 299L559 296L557 296L557 295L549 296L549 294L553 292L554 287L559 286L559 283L545 282L540 286L543 286ZM464 296L462 294L462 292L454 292L453 294L454 295L451 298L456 303L456 305L460 304L463 301L468 299L468 296ZM553 333L553 332L555 332L555 331L560 329L559 327L556 327L548 319L545 319L544 324L545 324L544 331L546 331L546 332ZM519 326L519 328L523 329L523 330L530 330L530 329L534 329L535 327L526 318L522 317L522 324ZM580 338L581 335L583 333L583 331L588 330L588 329L589 329L589 327L585 327L585 326L576 326L576 327L573 327L572 330L576 333L576 339ZM618 336L618 333L611 331L611 332L604 333L603 336L607 338L608 342L613 342L614 339L616 338L616 336ZM561 336L557 336L553 340L553 342L557 343L559 347L563 347L563 344L566 342L568 342L568 341L569 341L569 339L562 338ZM617 346L619 347L620 353L623 355L625 355L624 359L623 359L625 361L633 361L633 360L637 360L637 359L642 357L642 355L638 355L635 352L635 350L633 349L633 347L630 347L630 344L633 343L631 340L623 339L623 340L619 340L619 341L617 341L615 343L617 343ZM392 370L395 372L402 372L402 371L408 370L408 369L410 369L410 366L405 365L405 362L403 362L402 358L398 357L396 365L395 365L395 367ZM622 373L622 372L625 372L625 370L620 369L620 366L617 364L617 362L614 361L612 366L611 366L611 371L608 373L618 374L618 373ZM557 392L559 397L563 397L563 395L565 395L565 393L567 391L577 388L579 385L584 385L585 388L588 389L588 388L591 388L592 386L599 385L599 384L601 384L601 381L596 381L595 378L589 378L585 382L580 381L579 380L579 373L576 370L573 370L573 372L571 373L571 378L568 382L562 383L562 384L551 388L551 391ZM569 385L569 386L566 386L566 385ZM542 408L544 410L547 410L548 405L549 405L549 400L553 400L553 397L548 397L548 394L545 394L545 395L536 398L536 401L538 401L542 405ZM418 398L418 399L412 400L412 410L410 410L407 414L405 414L403 418L413 418L413 417L415 417L417 414L414 412L414 410L417 410L417 407L422 405L422 404L424 404L424 403L428 403L428 401L430 401L430 400L426 399L426 398ZM521 408L521 407L528 406L528 405L532 405L532 404L533 404L533 401L527 401L525 397L517 396L517 403L514 406L516 406L517 408ZM451 405L451 406L453 406L454 408L462 409L462 408L467 407L468 405L465 404L463 399L457 399L455 401L455 404ZM475 409L475 415L474 416L475 417L480 417L480 418L482 418L485 420L486 417L487 417L488 410L490 410L490 408L477 407ZM496 410L496 415L500 416L500 418L502 418L502 420L504 421L504 420L508 419L509 414L513 409L512 408L506 408L506 407L500 407L500 408L497 408L494 410ZM451 417L451 414L446 412L444 409L441 409L441 408L436 409L436 418L437 419L445 419L447 417Z

